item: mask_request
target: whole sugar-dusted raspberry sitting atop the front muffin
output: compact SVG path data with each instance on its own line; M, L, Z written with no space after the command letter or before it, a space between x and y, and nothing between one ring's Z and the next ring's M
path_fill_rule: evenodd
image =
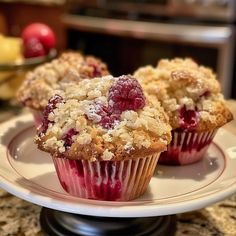
M145 106L142 88L135 78L123 75L111 86L109 100L113 101L113 109L119 111L138 110Z

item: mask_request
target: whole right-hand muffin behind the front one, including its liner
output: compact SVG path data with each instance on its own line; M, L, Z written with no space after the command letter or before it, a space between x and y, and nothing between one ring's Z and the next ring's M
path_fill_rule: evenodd
M159 163L185 165L201 160L217 129L233 119L211 69L192 59L160 60L134 76L159 100L172 127L172 141Z

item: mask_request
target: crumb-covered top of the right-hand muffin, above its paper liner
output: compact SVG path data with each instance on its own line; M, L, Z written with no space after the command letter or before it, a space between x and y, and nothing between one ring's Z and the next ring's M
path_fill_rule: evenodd
M163 59L134 76L145 93L161 101L173 129L209 131L233 119L216 75L190 58Z

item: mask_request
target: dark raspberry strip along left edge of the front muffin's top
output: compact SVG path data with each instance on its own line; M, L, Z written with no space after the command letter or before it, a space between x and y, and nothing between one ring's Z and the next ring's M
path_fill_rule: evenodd
M57 103L60 103L62 101L63 101L63 98L57 94L49 99L48 105L45 107L43 111L43 122L40 127L41 133L46 133L48 129L48 125L50 123L50 121L48 120L49 113L52 112L56 108Z

